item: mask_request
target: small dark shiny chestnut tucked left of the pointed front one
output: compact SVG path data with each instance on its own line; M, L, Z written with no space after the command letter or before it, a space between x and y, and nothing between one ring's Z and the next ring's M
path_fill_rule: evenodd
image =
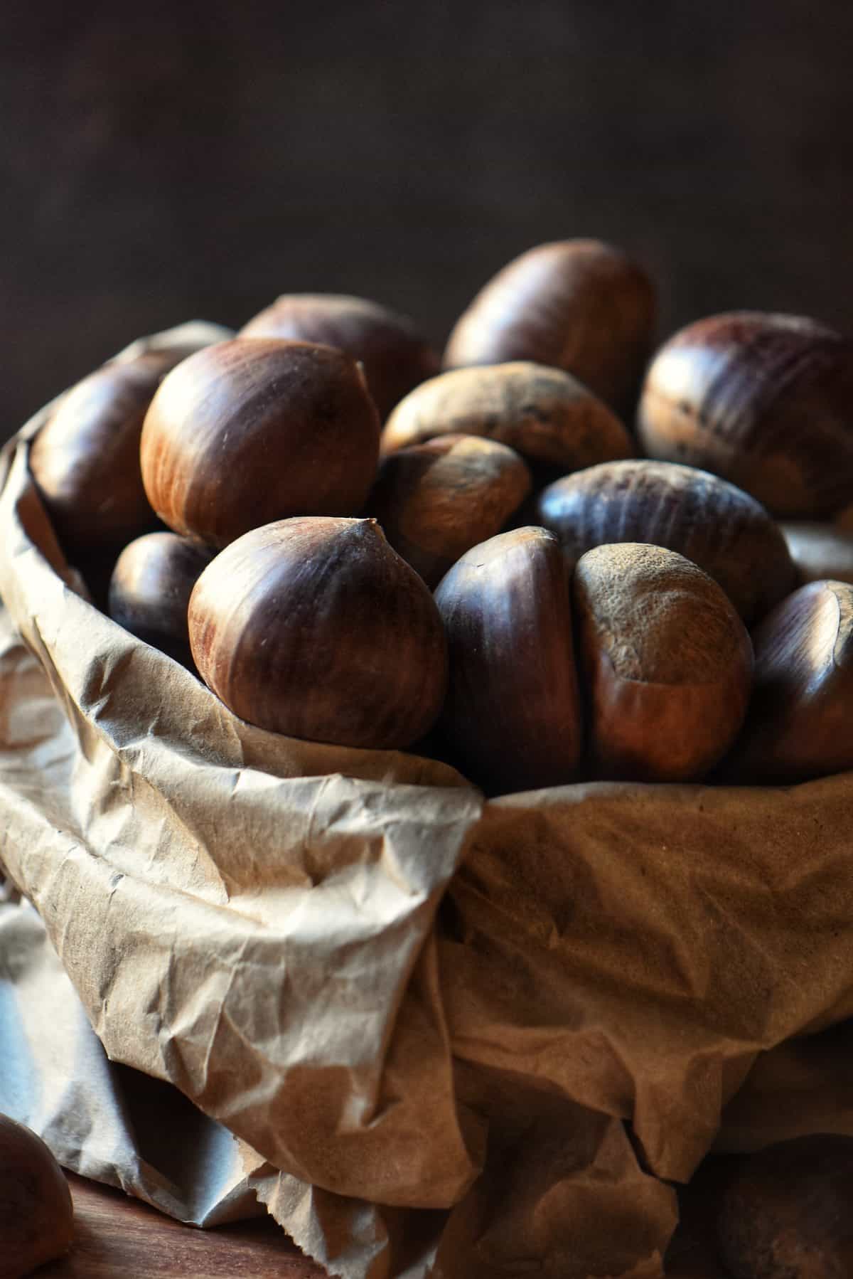
M187 610L214 551L178 533L146 533L115 561L107 611L114 622L183 665L191 665Z

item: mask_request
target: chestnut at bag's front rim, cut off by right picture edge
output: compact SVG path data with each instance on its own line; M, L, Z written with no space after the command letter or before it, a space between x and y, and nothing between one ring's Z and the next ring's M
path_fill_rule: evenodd
M732 769L767 781L853 769L853 586L808 582L752 642L755 691Z

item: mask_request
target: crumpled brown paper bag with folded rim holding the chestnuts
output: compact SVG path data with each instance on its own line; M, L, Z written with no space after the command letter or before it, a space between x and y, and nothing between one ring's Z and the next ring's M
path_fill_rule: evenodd
M107 1055L333 1273L660 1275L758 1055L853 1016L853 780L486 803L246 725L73 588L38 425L0 477L0 858Z

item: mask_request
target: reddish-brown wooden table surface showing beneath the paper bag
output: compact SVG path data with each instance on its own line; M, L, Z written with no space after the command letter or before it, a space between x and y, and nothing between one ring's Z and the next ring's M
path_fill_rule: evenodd
M38 1279L329 1279L271 1218L215 1230L182 1225L121 1191L68 1174L74 1198L72 1251ZM706 1214L685 1205L668 1279L726 1279L712 1260Z

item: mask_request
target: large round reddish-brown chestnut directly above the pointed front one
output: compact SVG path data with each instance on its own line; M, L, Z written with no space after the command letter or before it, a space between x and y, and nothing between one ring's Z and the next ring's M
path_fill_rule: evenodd
M379 434L349 356L235 338L164 379L142 427L142 478L169 528L223 547L274 519L357 513L376 473Z

